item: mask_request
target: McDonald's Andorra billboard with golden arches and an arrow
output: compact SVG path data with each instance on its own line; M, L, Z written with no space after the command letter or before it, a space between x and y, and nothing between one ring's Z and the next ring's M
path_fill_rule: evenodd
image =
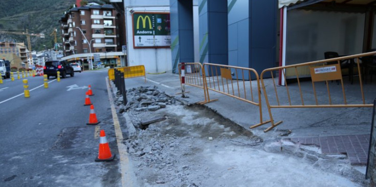
M132 22L134 48L170 47L170 13L135 12Z

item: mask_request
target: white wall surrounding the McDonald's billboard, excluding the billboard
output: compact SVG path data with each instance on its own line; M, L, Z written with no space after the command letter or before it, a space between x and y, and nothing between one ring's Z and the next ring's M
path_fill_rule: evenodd
M171 49L170 48L144 48L134 49L132 32L132 15L130 10L135 12L169 12L170 2L168 0L126 0L124 1L127 35L127 57L128 65L145 65L147 73L161 73L171 71Z

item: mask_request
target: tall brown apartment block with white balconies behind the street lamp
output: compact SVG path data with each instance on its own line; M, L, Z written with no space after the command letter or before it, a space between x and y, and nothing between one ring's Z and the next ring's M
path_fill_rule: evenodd
M65 12L60 19L64 55L121 49L117 42L116 14L112 5L74 7Z

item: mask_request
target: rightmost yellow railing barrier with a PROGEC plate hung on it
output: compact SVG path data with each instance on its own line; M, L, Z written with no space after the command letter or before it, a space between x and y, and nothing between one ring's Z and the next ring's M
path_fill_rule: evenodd
M274 123L273 115L272 115L272 108L327 108L327 107L372 107L372 104L366 104L365 98L364 98L364 90L363 90L363 81L362 81L362 70L364 69L364 64L361 62L361 58L366 56L373 56L376 55L376 52L370 52L370 53L363 53L363 54L357 54L357 55L350 55L345 57L339 57L339 58L332 58L332 59L325 59L325 60L318 60L313 62L306 62L301 64L295 64L295 65L287 65L282 67L274 67L274 68L268 68L264 69L260 75L260 80L262 84L262 90L264 93L264 97L266 99L269 116L271 119L272 126L264 130L264 132L267 132L274 128L275 126L282 123L282 121L279 121L277 123ZM359 91L359 97L361 99L348 102L346 99L346 91L343 83L342 78L342 71L341 71L341 60L351 60L353 63L356 63L356 67L358 69L358 76L359 76L359 87L356 88ZM335 64L330 64L330 62L335 62ZM329 65L328 65L329 63ZM349 64L352 65L352 64ZM312 88L313 90L303 90L301 87L301 81L299 78L298 68L306 67L309 68L310 71L310 77L312 80ZM298 84L299 93L291 92L289 89L289 83L287 82L285 72L287 69L293 69L293 72L295 72L295 80ZM274 92L275 97L272 98L271 95L268 96L268 92L266 89L266 84L264 82L263 76L267 73L270 73L273 80L274 85ZM284 90L282 87L276 86L274 75L276 73L281 73L282 79L285 82ZM291 80L291 79L290 79ZM343 101L341 103L338 102L338 99L334 102L332 100L330 89L329 89L329 82L328 81L340 81L341 82L341 97L343 98ZM316 82L325 82L326 90L327 90L327 101L320 98L320 100L317 97L317 89L315 86ZM353 85L350 90L347 91L354 91L355 85ZM282 92L283 90L283 92ZM334 92L338 93L339 89L333 90ZM307 93L308 92L308 93ZM311 94L315 97L315 103L307 103L304 101L305 95ZM294 98L300 98L300 102L296 103L295 100L292 100L291 95L295 94ZM279 99L279 96L285 96L288 99L288 104L285 104L284 102L281 102ZM298 95L298 96L297 96ZM308 96L309 97L309 96ZM273 101L271 101L273 99ZM255 126L253 126L255 127ZM251 127L251 128L253 128Z

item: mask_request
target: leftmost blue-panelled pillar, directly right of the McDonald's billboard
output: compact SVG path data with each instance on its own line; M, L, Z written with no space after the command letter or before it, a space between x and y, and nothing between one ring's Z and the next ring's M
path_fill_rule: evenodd
M170 0L172 73L180 62L193 62L193 2Z

